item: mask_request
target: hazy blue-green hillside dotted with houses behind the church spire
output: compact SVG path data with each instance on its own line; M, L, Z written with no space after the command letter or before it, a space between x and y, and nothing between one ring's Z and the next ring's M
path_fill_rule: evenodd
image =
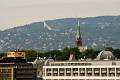
M82 41L91 47L120 47L120 16L79 18ZM77 21L75 18L36 22L29 25L0 31L0 51L35 49L48 51L73 47Z

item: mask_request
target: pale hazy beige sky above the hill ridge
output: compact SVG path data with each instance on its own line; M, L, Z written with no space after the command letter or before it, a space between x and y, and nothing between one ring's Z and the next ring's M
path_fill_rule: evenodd
M47 19L120 15L120 0L0 0L0 29Z

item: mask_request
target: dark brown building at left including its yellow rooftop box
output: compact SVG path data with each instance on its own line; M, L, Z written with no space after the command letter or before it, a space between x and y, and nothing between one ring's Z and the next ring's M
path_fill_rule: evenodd
M37 69L25 59L25 52L8 52L0 59L0 80L36 80Z

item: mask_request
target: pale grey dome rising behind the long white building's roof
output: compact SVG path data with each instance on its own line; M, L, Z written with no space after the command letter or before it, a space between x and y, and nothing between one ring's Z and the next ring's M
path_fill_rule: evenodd
M115 59L115 56L112 54L112 52L105 50L102 50L96 57L96 60L113 60L113 59Z

